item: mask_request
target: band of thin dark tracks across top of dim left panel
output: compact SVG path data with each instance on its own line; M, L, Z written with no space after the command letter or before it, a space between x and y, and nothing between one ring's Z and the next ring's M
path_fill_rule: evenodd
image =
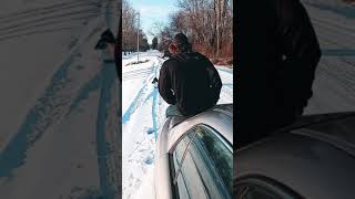
M55 32L82 27L90 19L99 17L102 2L67 4L64 8L48 10L47 7L34 11L10 13L0 18L0 41L30 35L34 33ZM55 8L55 9L54 9ZM64 10L64 12L63 12ZM33 12L33 13L32 13ZM13 15L11 18L11 15Z

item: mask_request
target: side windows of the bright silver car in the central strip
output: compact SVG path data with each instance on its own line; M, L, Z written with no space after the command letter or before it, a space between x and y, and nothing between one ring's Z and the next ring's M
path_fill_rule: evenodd
M232 150L213 129L199 125L189 130L172 159L179 198L231 198Z

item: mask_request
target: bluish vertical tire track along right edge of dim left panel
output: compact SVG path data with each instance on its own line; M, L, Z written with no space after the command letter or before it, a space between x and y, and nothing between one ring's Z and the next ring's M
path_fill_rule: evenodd
M111 13L111 8L113 4L106 3L105 7L105 23L109 29L113 32L114 28L111 22L115 21L115 17ZM114 143L114 140L106 140L106 134L110 134L112 129L110 129L109 124L109 115L114 113L110 111L110 102L111 102L111 91L112 87L118 80L116 76L116 67L114 62L104 63L103 64L103 73L101 78L101 93L99 101L99 112L98 112L98 121L97 121L97 153L98 153L98 164L99 164L99 176L100 176L100 197L103 199L116 199L121 196L122 186L119 185L120 181L116 181L115 178L115 158L112 153L114 150L111 149L110 145ZM109 129L108 129L109 128ZM112 134L112 133L111 133ZM116 151L118 153L118 151ZM112 168L113 167L113 168Z

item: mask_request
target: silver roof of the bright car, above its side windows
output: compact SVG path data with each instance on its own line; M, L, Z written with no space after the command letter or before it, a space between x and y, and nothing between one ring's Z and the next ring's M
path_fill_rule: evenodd
M166 154L186 130L197 124L214 128L233 145L233 104L222 104L193 117L169 117L160 130L159 154Z

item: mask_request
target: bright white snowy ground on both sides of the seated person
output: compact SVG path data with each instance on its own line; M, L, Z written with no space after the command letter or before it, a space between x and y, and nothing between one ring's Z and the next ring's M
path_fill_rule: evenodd
M162 54L149 51L123 56L122 61L122 191L124 199L154 198L153 167L155 138L165 119L168 104L151 83L159 77ZM129 65L128 65L129 64ZM219 104L233 102L233 71L216 66L223 87Z

